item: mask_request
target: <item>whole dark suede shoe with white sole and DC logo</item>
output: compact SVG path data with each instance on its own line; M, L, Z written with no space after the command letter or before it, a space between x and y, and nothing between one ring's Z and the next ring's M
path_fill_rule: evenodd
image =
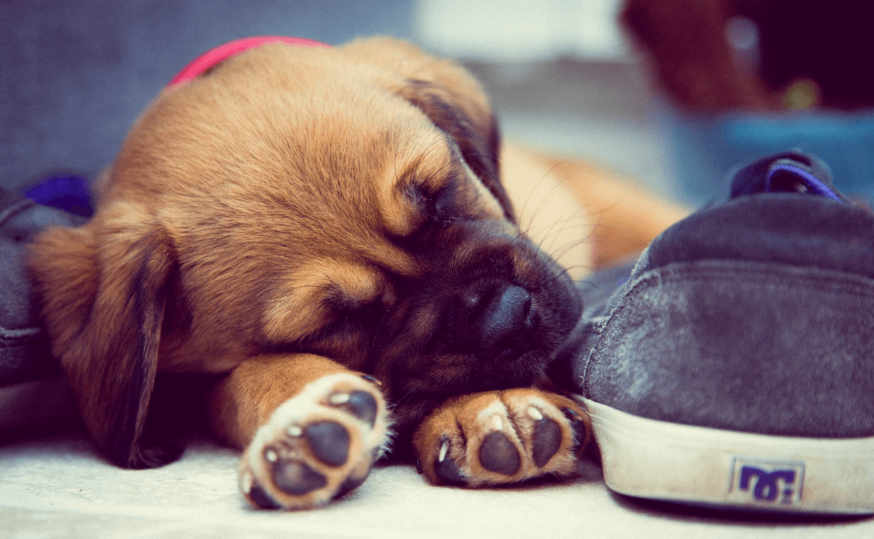
M795 152L579 288L551 367L618 493L874 513L874 214Z

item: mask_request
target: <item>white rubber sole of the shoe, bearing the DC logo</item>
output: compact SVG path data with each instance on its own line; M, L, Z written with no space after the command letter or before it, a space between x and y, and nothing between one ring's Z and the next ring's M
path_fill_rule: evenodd
M874 513L874 437L707 429L577 400L592 417L604 480L617 493L755 511Z

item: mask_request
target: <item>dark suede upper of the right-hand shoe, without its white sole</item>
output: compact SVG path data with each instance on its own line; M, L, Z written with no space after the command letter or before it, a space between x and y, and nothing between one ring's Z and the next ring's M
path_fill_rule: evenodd
M613 295L623 269L580 283L589 301L553 377L662 421L874 434L874 214L827 170L797 153L757 161L729 200L656 238Z

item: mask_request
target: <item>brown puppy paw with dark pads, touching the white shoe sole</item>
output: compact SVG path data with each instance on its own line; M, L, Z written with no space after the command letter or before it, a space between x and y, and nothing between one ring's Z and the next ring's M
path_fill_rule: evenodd
M420 425L413 445L432 483L490 486L571 474L591 433L570 399L518 388L445 403Z

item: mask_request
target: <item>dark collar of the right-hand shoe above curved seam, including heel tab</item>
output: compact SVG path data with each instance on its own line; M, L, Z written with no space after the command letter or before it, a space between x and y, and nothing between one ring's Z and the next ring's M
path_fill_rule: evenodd
M874 214L832 186L822 161L778 154L736 172L729 200L662 232L635 275L704 260L816 266L874 278Z

